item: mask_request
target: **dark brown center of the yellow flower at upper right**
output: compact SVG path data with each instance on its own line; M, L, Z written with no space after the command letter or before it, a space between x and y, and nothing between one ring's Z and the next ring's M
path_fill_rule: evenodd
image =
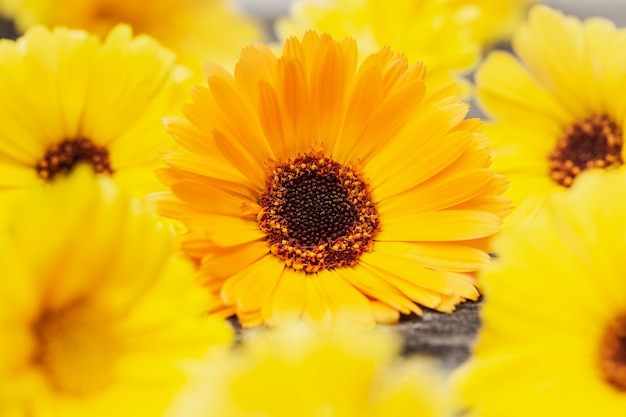
M618 167L622 145L622 131L606 115L580 120L565 129L550 153L550 178L569 187L586 169Z

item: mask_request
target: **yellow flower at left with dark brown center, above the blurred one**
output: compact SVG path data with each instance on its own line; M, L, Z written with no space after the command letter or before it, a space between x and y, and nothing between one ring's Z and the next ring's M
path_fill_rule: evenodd
M102 43L43 27L0 41L0 206L77 162L135 196L161 189L158 151L173 141L160 119L188 88L174 60L127 26Z

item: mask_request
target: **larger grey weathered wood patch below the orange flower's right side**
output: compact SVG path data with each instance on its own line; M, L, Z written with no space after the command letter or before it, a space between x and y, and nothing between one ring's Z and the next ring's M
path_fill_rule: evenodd
M425 310L422 317L408 316L394 327L404 335L403 353L436 357L444 368L465 361L480 327L480 302L466 302L453 313Z

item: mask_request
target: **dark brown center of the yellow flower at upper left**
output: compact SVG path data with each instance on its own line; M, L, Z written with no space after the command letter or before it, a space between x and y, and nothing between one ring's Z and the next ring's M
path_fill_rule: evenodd
M66 139L55 143L37 161L37 175L47 181L57 174L69 174L76 164L88 163L98 174L113 174L109 152L85 138Z

